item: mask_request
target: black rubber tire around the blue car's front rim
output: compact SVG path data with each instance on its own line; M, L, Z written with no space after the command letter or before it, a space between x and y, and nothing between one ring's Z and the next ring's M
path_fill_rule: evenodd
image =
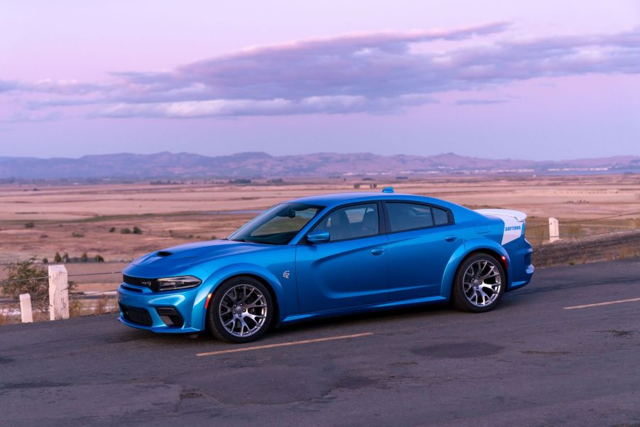
M250 335L245 335L245 336L238 336L231 333L228 330L228 328L224 326L223 321L221 320L221 315L220 315L221 311L223 311L224 313L224 308L222 308L221 310L221 303L223 301L223 298L225 298L226 294L232 288L238 289L238 286L251 286L257 289L263 296L264 302L266 305L264 323L260 325L260 328L258 330L255 330L254 333L251 333ZM233 294L235 295L235 293ZM229 298L229 296L227 296L225 299L225 304L228 304L230 301L231 299ZM249 312L250 310L253 310L253 308L248 308L247 310L245 310L245 312ZM214 295L211 296L211 301L209 301L209 308L206 311L206 322L207 322L207 325L209 325L209 330L211 330L211 334L213 334L214 337L216 337L217 339L226 341L226 342L235 342L240 344L243 342L255 341L255 340L258 340L258 338L262 337L265 334L265 332L267 332L267 329L271 324L271 321L273 318L273 312L274 312L273 299L271 298L271 293L269 292L267 287L262 282L256 279L253 279L253 277L238 276L238 277L233 277L232 279L229 279L228 281L222 283L216 289L216 292L214 293ZM227 313L224 313L224 315L228 315L228 313L229 312L227 311ZM257 323L255 323L255 325L257 325ZM236 328L236 322L233 321L233 326L231 327L231 329L234 330L234 332L236 332L237 334L238 331L236 331L235 328ZM240 328L241 330L243 330L242 325L240 326Z

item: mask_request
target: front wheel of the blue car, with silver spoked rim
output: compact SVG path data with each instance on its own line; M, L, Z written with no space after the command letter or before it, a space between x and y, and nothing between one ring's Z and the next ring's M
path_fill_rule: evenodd
M252 277L236 277L222 283L206 313L216 338L237 343L257 340L267 331L272 318L271 294Z

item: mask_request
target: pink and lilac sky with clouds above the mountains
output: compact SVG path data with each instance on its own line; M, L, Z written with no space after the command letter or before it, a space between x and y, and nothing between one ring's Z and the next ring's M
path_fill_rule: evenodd
M0 4L0 156L640 155L640 4Z

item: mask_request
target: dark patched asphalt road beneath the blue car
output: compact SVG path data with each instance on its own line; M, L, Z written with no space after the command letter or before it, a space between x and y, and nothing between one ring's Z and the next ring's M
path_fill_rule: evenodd
M283 328L237 349L114 315L0 328L0 426L640 426L640 259L536 271L491 313ZM245 347L248 347L245 345Z

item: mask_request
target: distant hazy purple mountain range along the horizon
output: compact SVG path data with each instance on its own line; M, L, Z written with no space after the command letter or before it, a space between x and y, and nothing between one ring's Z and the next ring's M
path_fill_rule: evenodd
M379 156L372 153L315 153L292 156L238 153L104 154L81 158L0 157L1 180L94 180L183 178L286 178L416 174L640 173L640 156L526 161L437 156Z

